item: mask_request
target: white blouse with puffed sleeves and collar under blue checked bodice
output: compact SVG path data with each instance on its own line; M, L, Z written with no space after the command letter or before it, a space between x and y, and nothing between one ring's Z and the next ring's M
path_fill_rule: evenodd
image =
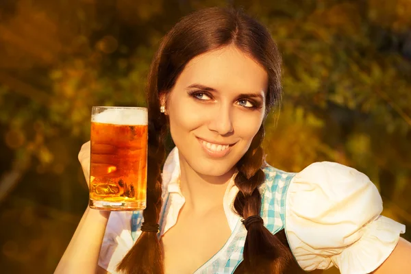
M356 169L334 162L316 162L300 173L281 172L283 177L284 174L293 176L285 196L284 229L295 259L305 271L336 266L343 274L370 273L388 258L397 245L399 234L406 230L405 225L380 215L382 199L377 188ZM162 173L162 197L169 194L169 201L162 209L161 216L163 212L167 214L159 236L175 225L184 205L179 174L175 148ZM233 233L241 219L231 210L238 192L234 176L223 199ZM131 222L132 212L110 214L99 266L112 274L118 273L116 265L134 245ZM136 238L140 233L138 231ZM195 273L214 273L201 272L201 269Z

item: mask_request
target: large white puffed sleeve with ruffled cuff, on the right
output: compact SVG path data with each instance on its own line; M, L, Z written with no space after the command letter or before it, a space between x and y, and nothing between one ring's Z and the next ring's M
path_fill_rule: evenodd
M343 274L370 273L406 229L380 215L382 199L369 177L334 162L295 175L285 212L290 249L305 271L336 266Z

